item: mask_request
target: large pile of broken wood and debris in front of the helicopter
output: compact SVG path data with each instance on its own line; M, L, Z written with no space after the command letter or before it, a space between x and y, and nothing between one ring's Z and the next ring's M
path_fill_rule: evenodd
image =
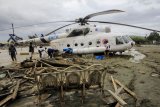
M58 99L60 105L63 105L66 100L65 93L69 91L81 92L82 103L88 95L88 90L92 93L99 90L102 100L107 104L118 102L119 106L126 105L124 99L127 95L121 93L123 89L136 98L135 93L113 77L111 78L115 92L107 90L109 96L106 96L104 85L106 74L109 73L108 67L101 64L85 65L85 63L85 60L80 58L56 58L25 60L17 68L1 68L0 106L12 103L16 98L30 96L37 97L36 101L33 101L34 104L30 106L42 105L42 102L50 96L52 96L52 101ZM55 95L55 93L59 94Z

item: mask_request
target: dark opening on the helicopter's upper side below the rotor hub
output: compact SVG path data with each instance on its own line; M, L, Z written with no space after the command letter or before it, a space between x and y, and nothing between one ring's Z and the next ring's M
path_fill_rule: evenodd
M74 29L67 37L75 37L80 35L86 35L90 31L90 28Z

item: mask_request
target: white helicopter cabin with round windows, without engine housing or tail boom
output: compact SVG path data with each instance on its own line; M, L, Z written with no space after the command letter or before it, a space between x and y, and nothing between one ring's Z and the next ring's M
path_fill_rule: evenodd
M50 42L50 45L60 52L66 48L71 48L74 54L102 53L105 51L123 52L132 48L133 44L134 42L127 36L113 36L102 32L61 38Z

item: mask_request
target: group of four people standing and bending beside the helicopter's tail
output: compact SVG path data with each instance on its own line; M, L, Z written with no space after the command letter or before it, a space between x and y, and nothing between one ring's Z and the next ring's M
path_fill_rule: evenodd
M53 48L44 48L42 45L38 48L38 53L40 58L44 58L46 54L50 58L53 58L55 50ZM33 43L30 42L29 44L29 59L32 60L34 53L34 46ZM9 46L9 55L11 56L12 61L17 61L16 55L17 55L17 50L13 44L10 44Z

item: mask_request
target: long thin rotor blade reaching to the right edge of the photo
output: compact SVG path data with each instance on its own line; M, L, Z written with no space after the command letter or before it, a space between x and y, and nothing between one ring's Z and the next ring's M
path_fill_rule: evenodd
M88 22L107 23L107 24L128 26L128 27L133 27L133 28L139 28L139 29L144 29L144 30L149 30L149 31L160 32L159 30L154 30L154 29L140 27L140 26L135 26L135 25L123 24L123 23L116 23L116 22L105 22L105 21L88 21Z

